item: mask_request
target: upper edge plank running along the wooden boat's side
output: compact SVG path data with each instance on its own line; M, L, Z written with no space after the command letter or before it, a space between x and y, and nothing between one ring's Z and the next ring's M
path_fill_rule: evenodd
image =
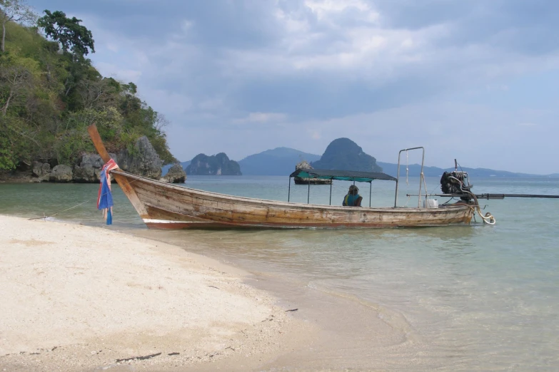
M201 196L208 196L208 197L218 197L221 198L223 200L227 200L227 201L238 201L238 202L250 202L250 203L254 203L254 204L258 204L258 205L270 205L272 207L301 207L304 209L322 209L322 210L338 210L338 211L343 211L343 212L361 212L361 211L367 211L367 212L391 212L391 213L396 213L396 212L418 212L418 213L443 213L443 212L450 212L450 210L452 210L453 212L458 212L460 210L465 210L468 208L471 208L471 205L447 205L445 207L439 207L439 208L413 208L413 207L344 207L344 206L338 206L338 205L318 205L318 204L305 204L305 203L297 203L297 202L281 202L279 200L268 200L268 199L258 199L255 197L240 197L240 196L236 196L236 195L227 195L227 194L221 194L219 192L211 192L211 191L206 191L206 190L198 190L198 189L193 189L191 187L182 187L182 186L177 186L177 185L173 185L173 184L169 184L167 182L162 182L159 180L152 180L151 178L148 177L143 177L140 175L134 175L130 172L126 172L124 170L111 170L111 173L115 173L117 175L121 175L123 177L131 177L135 180L140 180L142 182L146 182L148 184L151 185L156 185L156 186L162 186L171 190L176 190L178 192L193 192L195 194L201 195ZM130 184L132 184L133 182L130 182Z

